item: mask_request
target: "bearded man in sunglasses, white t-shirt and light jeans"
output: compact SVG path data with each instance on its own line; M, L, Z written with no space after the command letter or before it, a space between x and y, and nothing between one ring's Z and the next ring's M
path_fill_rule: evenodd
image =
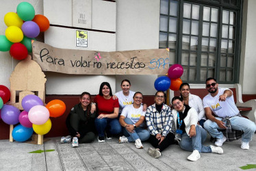
M255 123L241 117L238 107L235 106L233 92L228 88L218 88L216 79L206 79L206 89L209 94L203 98L203 107L208 120L204 123L204 128L212 137L217 138L215 145L222 146L227 140L227 137L218 129L231 130L232 128L244 131L241 148L248 150L249 142L256 130ZM217 117L214 117L212 112Z

